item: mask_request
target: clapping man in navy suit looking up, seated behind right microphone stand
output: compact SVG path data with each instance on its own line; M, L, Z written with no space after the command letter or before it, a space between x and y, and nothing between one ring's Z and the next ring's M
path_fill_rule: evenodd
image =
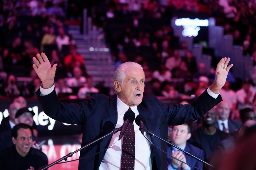
M171 143L175 146L185 150L186 152L189 152L190 154L196 156L197 158L203 160L204 159L204 153L203 150L191 145L187 142L187 140L191 137L191 132L188 124L182 124L179 126L173 126L171 132ZM189 165L192 165L194 167L197 167L199 169L203 169L203 163L190 157L189 155L184 154L177 148L168 145L167 153L171 154L175 158L188 163ZM174 158L171 158L169 155L167 155L167 163L168 163L168 170L174 170L174 169L190 169L194 170L194 167L191 167L185 163L182 163Z

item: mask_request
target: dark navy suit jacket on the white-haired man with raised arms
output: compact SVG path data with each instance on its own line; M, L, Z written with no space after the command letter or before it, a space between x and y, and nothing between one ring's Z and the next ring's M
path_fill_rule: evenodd
M42 105L43 111L51 118L68 124L81 124L83 129L82 146L106 135L117 124L117 101L116 97L102 94L94 94L88 101L75 103L61 103L55 89L48 95L40 96L40 90L36 92ZM143 97L138 105L139 114L147 117L146 128L167 141L168 125L181 125L185 122L197 120L204 113L222 101L219 95L217 99L211 97L207 91L199 96L191 105L167 105L162 103L156 96ZM93 155L108 148L112 135L102 139L80 151L80 158ZM167 144L156 137L151 141L157 147L167 151ZM166 154L156 146L152 146L154 163L157 169L167 169ZM105 151L106 152L106 151ZM79 169L98 169L105 152L79 161ZM154 167L153 163L153 167Z

